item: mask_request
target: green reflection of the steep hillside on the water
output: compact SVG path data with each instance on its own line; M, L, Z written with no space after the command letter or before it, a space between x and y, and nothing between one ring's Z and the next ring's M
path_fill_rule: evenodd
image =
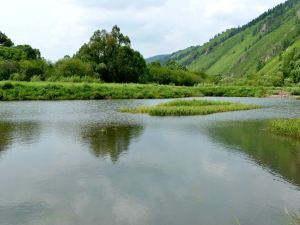
M260 166L300 187L300 142L270 134L266 124L224 122L209 129L210 136L246 153Z

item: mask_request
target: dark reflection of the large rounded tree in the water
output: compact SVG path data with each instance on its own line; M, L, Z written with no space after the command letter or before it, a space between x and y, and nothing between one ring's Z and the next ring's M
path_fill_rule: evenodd
M117 162L127 152L131 140L138 138L142 131L142 126L135 125L94 125L84 129L82 138L96 157L109 156Z

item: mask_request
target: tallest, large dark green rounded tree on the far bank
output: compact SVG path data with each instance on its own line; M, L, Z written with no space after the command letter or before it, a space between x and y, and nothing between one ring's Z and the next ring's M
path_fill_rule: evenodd
M131 48L129 37L118 26L111 32L96 31L75 57L92 63L106 82L137 82L139 76L147 73L144 58Z

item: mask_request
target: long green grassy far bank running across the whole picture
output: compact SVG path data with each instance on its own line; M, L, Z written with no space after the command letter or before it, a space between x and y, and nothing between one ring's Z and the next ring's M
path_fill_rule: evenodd
M300 88L285 88L298 95ZM157 84L110 84L68 82L0 82L0 100L97 100L97 99L162 99L201 96L265 97L276 95L281 88L245 86L194 87Z

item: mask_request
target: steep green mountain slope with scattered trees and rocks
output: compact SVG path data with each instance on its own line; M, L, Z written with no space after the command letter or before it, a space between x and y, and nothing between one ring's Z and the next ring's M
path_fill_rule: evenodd
M209 75L243 76L269 73L279 66L288 48L300 46L300 0L288 0L250 23L217 34L201 46L151 61L175 60Z

